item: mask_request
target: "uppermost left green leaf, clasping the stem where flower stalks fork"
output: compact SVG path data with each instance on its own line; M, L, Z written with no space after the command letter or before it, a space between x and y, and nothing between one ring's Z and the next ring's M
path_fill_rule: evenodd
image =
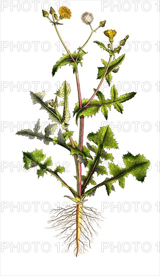
M86 54L86 53L81 52L81 53L79 54L79 56L78 56L78 59L77 59L78 53L76 53L76 51L75 51L73 54L71 54L72 57L74 58L74 60L77 59L77 61L75 61L75 62L71 59L71 57L70 57L70 55L69 55L68 53L67 53L67 54L63 54L63 57L60 58L60 60L57 61L56 64L53 66L52 76L55 75L55 73L57 72L57 70L58 70L59 68L61 68L62 66L65 66L65 65L67 65L67 64L73 66L73 73L75 73L75 70L76 70L76 68L77 68L78 63L80 63L81 66L82 66L82 62L81 62L81 61L83 60L83 56L84 56L85 54Z

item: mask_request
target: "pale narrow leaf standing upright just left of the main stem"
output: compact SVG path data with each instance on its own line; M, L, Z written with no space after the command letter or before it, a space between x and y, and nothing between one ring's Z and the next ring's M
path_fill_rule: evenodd
M63 129L66 129L68 127L68 121L70 119L70 113L68 110L68 96L70 92L71 92L71 88L69 84L66 81L64 81L61 88L56 93L57 96L64 97L64 101L63 101L64 109L63 109L63 116L61 121Z

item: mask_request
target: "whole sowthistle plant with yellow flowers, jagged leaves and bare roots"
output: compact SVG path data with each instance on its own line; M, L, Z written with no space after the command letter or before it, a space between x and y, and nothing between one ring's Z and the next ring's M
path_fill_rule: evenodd
M59 61L53 66L52 75L54 76L58 69L67 64L73 67L73 74L75 74L77 82L77 91L78 91L78 103L76 103L73 115L76 116L76 124L79 125L79 142L73 140L74 131L69 130L69 119L70 112L68 107L69 95L71 92L70 85L65 80L62 83L60 89L55 93L55 99L44 100L45 92L33 93L31 92L31 98L33 104L39 103L41 109L45 109L49 113L49 119L55 123L50 123L45 128L45 133L40 131L40 120L35 124L33 130L24 129L18 131L17 134L28 136L29 139L42 140L46 145L49 145L51 142L54 145L59 145L66 149L69 154L74 157L75 167L76 167L76 181L77 189L67 184L64 181L60 174L65 171L64 167L58 166L55 169L51 169L52 160L51 157L46 158L42 150L35 150L31 153L23 153L24 168L29 170L33 167L39 167L37 170L38 178L44 176L46 173L50 173L58 181L61 182L62 186L66 187L72 194L66 195L65 197L72 200L74 203L67 208L58 208L57 210L52 210L52 217L50 219L51 228L60 230L58 236L64 238L64 242L68 244L68 248L71 245L75 245L76 256L78 253L82 253L87 250L88 246L93 239L93 233L97 233L94 230L93 224L99 225L101 220L101 214L97 212L96 209L90 208L84 205L84 202L89 196L94 196L95 191L99 187L104 187L108 196L111 191L114 191L113 183L119 183L121 188L124 188L125 177L129 174L132 174L136 180L143 182L146 176L146 170L149 166L149 161L145 159L143 155L137 154L133 156L131 153L123 155L123 162L125 168L120 168L113 163L113 156L111 153L107 153L106 149L118 149L117 142L113 137L113 133L109 127L103 126L100 127L96 133L89 133L87 139L90 142L86 143L86 146L83 144L84 139L84 118L92 115L96 115L99 110L101 110L105 119L108 118L108 109L111 110L111 106L122 113L123 105L122 103L133 98L135 92L126 93L118 96L118 92L113 85L110 90L110 98L105 97L105 95L99 90L101 84L104 80L107 81L108 86L111 84L112 73L117 73L119 66L124 60L125 54L119 56L115 59L115 55L119 54L122 46L125 45L128 35L119 42L118 47L113 49L113 40L116 36L115 30L105 30L104 35L109 39L108 46L106 47L102 42L94 41L100 48L102 48L106 55L109 55L108 61L102 59L102 67L98 67L97 79L100 79L100 82L96 89L94 90L93 95L88 99L82 99L81 90L80 90L80 81L78 74L79 64L82 66L83 56L87 54L84 51L84 47L89 42L90 38L98 29L104 28L106 21L101 21L99 26L93 30L91 23L93 22L93 15L89 12L82 14L82 22L89 26L91 29L91 34L83 46L78 47L77 51L71 53L63 39L60 36L58 31L58 25L63 25L64 19L71 18L71 11L67 7L60 7L59 16L56 14L55 10L51 7L50 13L43 10L43 16L46 17L54 26L57 35L62 42L64 48L66 49L66 54L60 58ZM51 17L51 18L50 18ZM60 23L61 22L61 23ZM107 91L105 92L107 94ZM96 99L95 99L96 97ZM62 98L62 99L61 99ZM60 100L61 101L60 101ZM60 113L59 107L63 107L63 113ZM61 125L57 137L51 137L57 129L57 124ZM45 160L45 161L44 161ZM104 177L104 180L100 183L97 183L94 180L94 174L107 175L107 169L102 166L102 160L108 161L108 168L110 177ZM86 172L82 174L82 169L87 169ZM91 185L91 188L88 189L88 185Z

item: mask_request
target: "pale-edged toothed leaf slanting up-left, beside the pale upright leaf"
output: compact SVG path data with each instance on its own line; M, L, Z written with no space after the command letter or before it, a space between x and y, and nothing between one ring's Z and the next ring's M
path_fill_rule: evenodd
M31 98L33 100L33 104L40 103L41 104L40 109L45 109L49 113L49 119L51 119L52 121L61 123L62 117L60 113L56 109L49 106L50 101L46 101L46 102L43 101L44 96L45 96L45 92L42 92L42 93L31 92Z

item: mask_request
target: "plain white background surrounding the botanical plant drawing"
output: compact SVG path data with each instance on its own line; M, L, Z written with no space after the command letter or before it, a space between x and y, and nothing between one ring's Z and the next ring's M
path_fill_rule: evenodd
M126 178L124 189L116 183L116 191L108 197L105 189L101 187L94 197L88 199L88 206L104 211L104 221L92 248L78 258L73 255L73 248L70 252L62 252L65 250L62 241L54 237L54 230L45 228L50 217L49 212L45 210L50 209L50 205L56 208L57 203L62 205L67 201L63 197L69 194L67 189L62 188L61 184L49 175L38 179L34 169L26 172L23 169L22 151L43 149L47 157L52 156L53 167L58 162L60 165L68 162L69 172L63 173L62 177L76 189L73 158L61 147L51 144L46 146L37 139L29 140L27 137L15 135L21 128L33 129L33 122L39 118L41 123L48 121L48 114L44 110L39 110L38 104L32 104L29 91L25 90L41 92L43 82L49 82L51 89L46 92L45 98L48 100L55 97L57 85L67 80L72 90L69 99L71 113L78 100L76 79L71 66L59 69L54 78L51 74L52 66L65 52L62 52L63 47L59 44L54 27L42 16L42 8L49 10L47 3L1 1L1 40L6 42L3 44L6 48L1 49L1 81L2 85L6 82L8 86L1 86L1 201L6 202L6 205L2 204L7 207L3 208L1 213L1 245L6 242L8 247L1 253L1 275L159 275L159 2L58 1L55 5L54 1L50 2L56 10L59 9L59 5L67 5L72 11L71 19L64 20L64 25L59 27L63 40L70 43L71 52L82 46L90 35L89 26L83 24L80 19L83 12L93 13L94 29L100 21L107 21L105 28L100 28L84 49L88 54L84 56L83 67L79 66L82 97L89 98L92 95L93 88L99 84L96 76L97 67L102 66L101 58L108 60L108 54L93 41L107 43L103 34L106 29L117 31L115 46L127 34L129 35L125 50L121 50L121 54L126 53L125 60L119 72L112 75L114 84L119 85L119 95L131 91L137 94L123 104L123 114L114 108L108 112L108 123L119 145L119 150L113 150L112 153L115 164L119 162L120 166L122 155L127 151L133 155L143 154L151 162L142 184L129 176ZM19 8L12 7L16 4ZM3 8L4 6L8 7ZM12 48L12 45L18 42L19 48ZM40 42L37 44L37 51L33 42ZM48 45L51 45L51 49L47 51ZM37 90L35 81L39 82ZM13 84L18 82L20 87L13 87ZM137 87L135 82L139 82ZM101 91L107 98L110 88L106 83L104 85L106 88L102 87ZM48 90L47 84L44 89ZM106 125L106 121L100 113L92 118L85 118L85 142L89 132L95 132L103 125ZM78 127L75 125L75 118L72 117L70 130L75 131L74 139L78 140ZM39 202L37 212L33 202ZM135 203L132 202L138 202L137 211ZM12 208L13 204L20 204L19 208ZM119 208L111 208L118 204ZM103 205L108 208L102 210ZM31 210L25 211L29 207ZM131 210L126 212L128 208ZM150 210L147 211L148 208ZM17 245L18 242L20 250L12 249L12 245ZM23 247L24 242L27 243ZM39 242L37 252L33 242ZM51 246L49 252L44 252L48 249L47 244L41 248L44 242ZM118 242L119 252L117 248L112 248L112 245L117 245ZM124 245L124 242L127 244ZM139 242L137 252L134 242ZM102 250L102 246L106 244L109 244L109 247ZM31 248L29 252L25 252L28 246ZM130 251L125 252L128 248Z

